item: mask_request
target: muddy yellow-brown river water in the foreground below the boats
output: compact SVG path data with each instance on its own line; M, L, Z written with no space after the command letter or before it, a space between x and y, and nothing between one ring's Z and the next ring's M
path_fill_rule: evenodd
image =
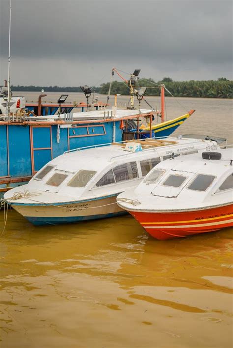
M9 211L2 347L230 348L232 232L157 241L129 215L36 228Z

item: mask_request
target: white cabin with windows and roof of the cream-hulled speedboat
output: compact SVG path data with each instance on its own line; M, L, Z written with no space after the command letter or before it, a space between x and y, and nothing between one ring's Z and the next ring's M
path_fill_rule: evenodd
M53 196L56 201L62 200L62 196L77 200L117 194L138 185L161 161L217 148L211 140L167 138L75 149L50 161L25 187L30 191L58 193Z

